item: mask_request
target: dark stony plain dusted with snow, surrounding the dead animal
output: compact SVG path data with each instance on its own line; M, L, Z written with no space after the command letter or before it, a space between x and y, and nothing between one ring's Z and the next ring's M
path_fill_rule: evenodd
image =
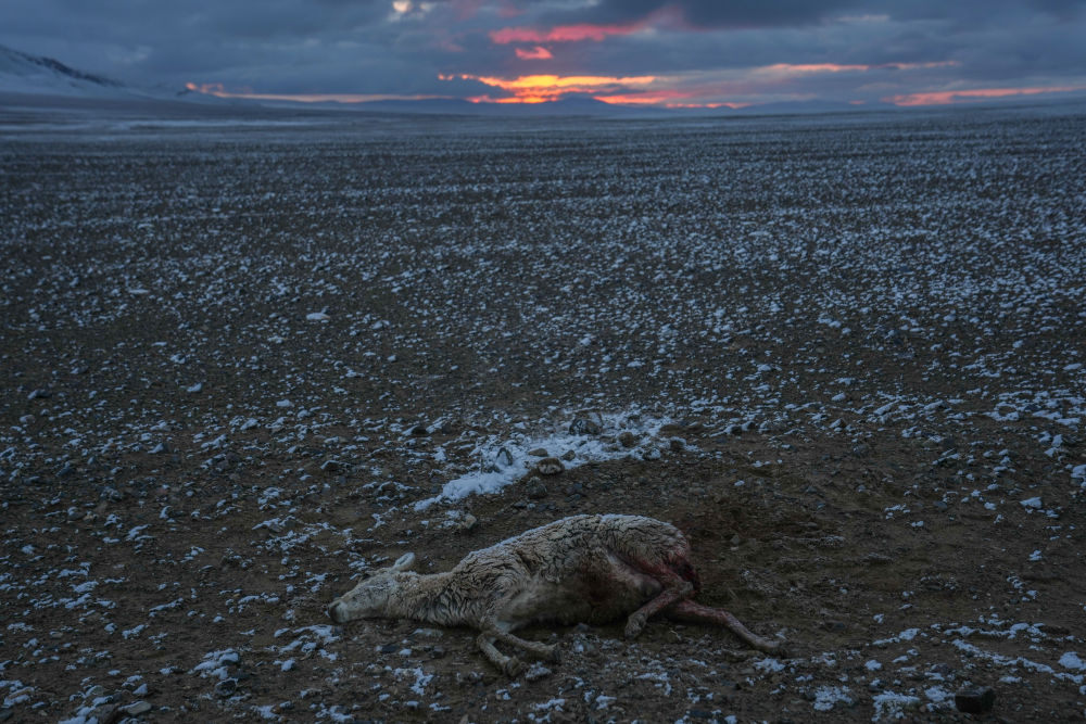
M1086 715L1074 110L0 135L0 721ZM787 652L325 615L578 512Z

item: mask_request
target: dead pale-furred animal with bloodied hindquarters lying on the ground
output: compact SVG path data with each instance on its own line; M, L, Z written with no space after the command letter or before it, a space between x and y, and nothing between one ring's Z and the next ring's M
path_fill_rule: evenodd
M627 618L634 637L648 618L664 612L727 626L750 646L774 651L780 642L757 636L722 609L690 600L697 574L690 545L670 523L642 516L572 516L468 554L451 571L409 571L413 554L375 571L333 600L338 623L361 618L412 619L465 625L478 645L509 675L521 662L497 650L503 642L539 658L554 646L512 632L533 623L605 623Z

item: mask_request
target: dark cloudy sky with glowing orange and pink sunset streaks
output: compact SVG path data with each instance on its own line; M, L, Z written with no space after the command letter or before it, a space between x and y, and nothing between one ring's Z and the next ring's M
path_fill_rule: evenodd
M1086 0L2 0L0 45L129 82L310 99L1086 94Z

